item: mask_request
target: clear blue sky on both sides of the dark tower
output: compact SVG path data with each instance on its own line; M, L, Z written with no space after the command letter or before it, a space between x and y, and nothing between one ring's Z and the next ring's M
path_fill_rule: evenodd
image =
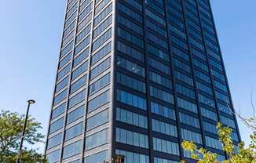
M255 0L212 0L232 100L244 116L256 103ZM57 71L64 0L2 0L0 9L0 109L31 114L46 133ZM255 104L256 105L256 104ZM240 123L243 140L250 130Z

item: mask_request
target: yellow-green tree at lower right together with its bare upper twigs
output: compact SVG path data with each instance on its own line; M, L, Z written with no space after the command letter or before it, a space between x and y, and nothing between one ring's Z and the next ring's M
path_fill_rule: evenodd
M253 92L251 92L251 107L252 107L252 117L245 118L240 111L232 110L229 104L226 105L232 114L237 115L240 121L252 130L251 143L246 147L245 143L240 142L238 145L238 150L235 151L235 146L232 142L231 133L232 129L223 126L220 122L216 125L218 129L218 136L222 143L222 150L228 155L227 160L222 161L222 163L256 163L256 115L253 103ZM218 155L211 153L204 148L196 147L196 144L191 141L183 141L181 146L184 150L191 153L191 158L198 161L199 163L218 163ZM185 161L181 161L181 163Z

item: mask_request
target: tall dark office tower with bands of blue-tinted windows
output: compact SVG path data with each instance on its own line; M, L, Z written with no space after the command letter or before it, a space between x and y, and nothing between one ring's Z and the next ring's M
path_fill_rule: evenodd
M209 0L68 0L49 163L225 159L215 125L240 134Z

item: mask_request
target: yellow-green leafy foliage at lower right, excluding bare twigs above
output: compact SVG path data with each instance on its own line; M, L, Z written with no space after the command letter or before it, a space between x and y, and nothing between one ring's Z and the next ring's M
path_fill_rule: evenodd
M239 150L235 151L232 143L231 132L232 129L224 127L221 123L217 124L218 136L222 142L222 150L229 156L229 159L222 161L222 163L256 163L256 132L251 135L251 143L246 147L243 142L239 143ZM196 144L190 141L183 141L181 146L184 150L191 153L191 158L197 160L199 163L218 163L218 155L207 151L204 148L196 147ZM185 163L185 161L181 161Z

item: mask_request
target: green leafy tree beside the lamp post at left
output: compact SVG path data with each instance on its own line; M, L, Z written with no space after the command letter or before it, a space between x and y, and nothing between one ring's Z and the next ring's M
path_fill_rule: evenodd
M0 112L0 160L1 162L14 163L18 155L20 137L25 121L24 114L12 113L2 110ZM43 136L39 129L42 129L41 123L35 121L35 118L27 118L27 126L24 137L24 143L27 146L42 143ZM38 149L24 147L21 154L21 161L27 163L45 162L42 160L42 154L38 154Z

